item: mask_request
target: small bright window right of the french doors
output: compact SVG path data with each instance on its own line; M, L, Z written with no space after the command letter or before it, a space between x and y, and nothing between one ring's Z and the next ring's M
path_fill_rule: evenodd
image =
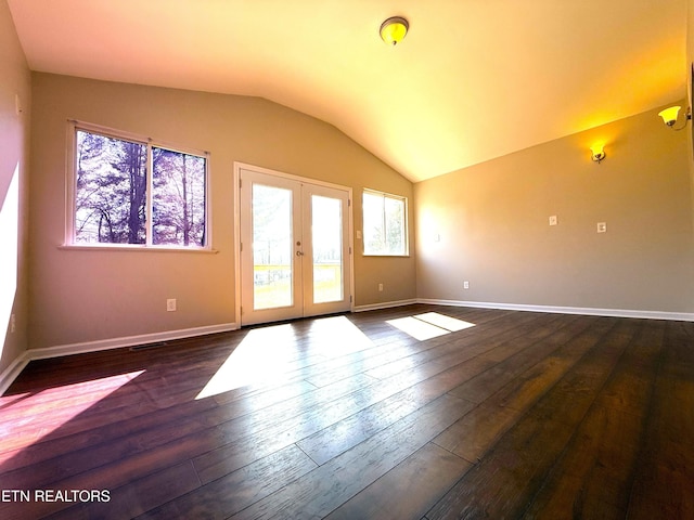
M364 190L364 255L408 255L408 200L387 193Z

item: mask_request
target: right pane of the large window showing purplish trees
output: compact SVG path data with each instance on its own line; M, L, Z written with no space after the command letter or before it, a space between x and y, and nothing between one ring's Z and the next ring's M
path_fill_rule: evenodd
M152 148L152 244L205 245L205 160Z

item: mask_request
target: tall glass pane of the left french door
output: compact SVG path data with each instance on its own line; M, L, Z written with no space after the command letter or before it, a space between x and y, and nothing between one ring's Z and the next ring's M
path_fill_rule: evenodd
M253 308L293 304L292 190L253 185Z

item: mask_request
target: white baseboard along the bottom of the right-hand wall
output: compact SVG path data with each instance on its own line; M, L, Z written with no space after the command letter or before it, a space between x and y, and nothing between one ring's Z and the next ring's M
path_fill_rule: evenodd
M664 312L664 311L638 311L628 309L596 309L592 307L553 307L553 306L524 306L518 303L493 303L484 301L437 300L419 298L417 303L433 306L471 307L475 309L500 309L506 311L545 312L554 314L582 314L588 316L607 317L637 317L642 320L669 320L674 322L694 322L694 313Z

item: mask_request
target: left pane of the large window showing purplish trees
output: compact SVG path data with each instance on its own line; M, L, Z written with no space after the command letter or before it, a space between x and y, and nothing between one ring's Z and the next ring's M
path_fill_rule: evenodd
M146 145L77 131L75 243L144 244Z

